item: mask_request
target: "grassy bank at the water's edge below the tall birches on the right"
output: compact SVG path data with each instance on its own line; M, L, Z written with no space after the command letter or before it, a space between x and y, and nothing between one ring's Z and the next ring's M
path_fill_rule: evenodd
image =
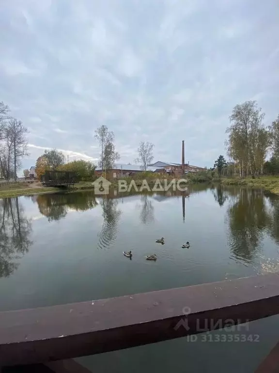
M259 187L271 191L272 193L279 194L279 177L278 176L259 176L255 179L247 177L240 178L223 178L221 183L224 185L242 185L249 187Z

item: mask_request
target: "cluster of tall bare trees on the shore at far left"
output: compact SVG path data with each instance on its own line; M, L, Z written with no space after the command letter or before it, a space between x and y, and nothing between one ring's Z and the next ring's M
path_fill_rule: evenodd
M0 102L0 176L16 181L21 160L28 155L27 128L10 115L10 108Z

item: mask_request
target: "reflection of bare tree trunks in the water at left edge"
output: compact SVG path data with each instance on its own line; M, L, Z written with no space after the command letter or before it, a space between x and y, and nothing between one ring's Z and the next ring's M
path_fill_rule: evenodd
M30 233L31 220L24 216L18 197L0 200L0 277L7 277L18 268L15 260L28 252Z

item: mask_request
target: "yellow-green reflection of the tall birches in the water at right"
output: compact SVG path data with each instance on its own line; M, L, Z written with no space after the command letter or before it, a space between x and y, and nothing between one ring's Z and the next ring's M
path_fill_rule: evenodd
M257 253L270 217L263 192L240 189L237 202L228 209L229 244L235 258L251 261Z

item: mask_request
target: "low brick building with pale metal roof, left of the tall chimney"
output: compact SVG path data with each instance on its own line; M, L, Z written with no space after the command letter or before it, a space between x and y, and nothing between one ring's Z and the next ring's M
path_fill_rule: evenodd
M166 172L164 168L161 168L161 167L157 168L157 167L151 167L151 166L147 167L147 171L158 172L158 173ZM103 170L101 169L101 167L97 167L95 172L99 176L102 174ZM106 170L106 177L107 179L112 179L112 178L115 179L115 178L120 178L124 176L132 176L138 172L142 172L142 168L140 165L130 165L130 164L125 165L121 163L116 163L113 169Z

